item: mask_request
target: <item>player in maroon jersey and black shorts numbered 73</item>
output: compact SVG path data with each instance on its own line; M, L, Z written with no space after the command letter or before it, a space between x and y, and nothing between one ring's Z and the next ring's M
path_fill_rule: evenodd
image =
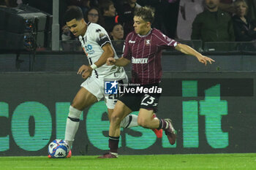
M187 55L193 55L205 65L214 62L187 45L176 42L151 28L154 12L149 7L141 7L135 11L134 28L127 35L124 43L124 53L121 58L108 58L108 65L126 66L132 63L132 83L140 84L143 88L159 88L162 77L161 55L163 47L174 47ZM140 86L140 87L141 87ZM145 92L146 90L143 90ZM158 93L124 93L118 99L113 114L110 117L109 147L110 152L99 158L117 158L118 141L121 120L133 111L138 111L138 125L143 128L163 129L170 144L176 142L176 132L170 119L152 117L157 111Z

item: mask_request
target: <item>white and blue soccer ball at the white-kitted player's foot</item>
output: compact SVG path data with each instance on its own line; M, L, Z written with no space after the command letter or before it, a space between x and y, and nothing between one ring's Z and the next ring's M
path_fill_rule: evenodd
M62 139L55 139L48 146L48 153L51 158L66 158L68 152L69 146Z

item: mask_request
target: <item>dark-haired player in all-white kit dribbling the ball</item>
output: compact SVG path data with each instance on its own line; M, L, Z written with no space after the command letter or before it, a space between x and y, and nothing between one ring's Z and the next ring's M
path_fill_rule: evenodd
M108 117L113 112L117 98L105 94L105 80L113 80L127 83L127 75L121 66L107 66L105 63L107 58L118 58L115 50L110 42L108 33L102 26L96 23L86 23L83 19L83 12L80 7L70 7L64 15L66 24L72 34L79 37L81 45L86 57L89 59L90 66L80 66L78 74L86 79L76 94L71 106L69 107L69 115L67 117L65 139L72 147L75 134L78 131L80 115L83 109L90 107L102 98L105 98L108 107ZM121 123L121 127L129 128L138 125L138 116L127 116ZM154 129L155 134L162 136L162 131ZM69 155L71 156L71 150Z

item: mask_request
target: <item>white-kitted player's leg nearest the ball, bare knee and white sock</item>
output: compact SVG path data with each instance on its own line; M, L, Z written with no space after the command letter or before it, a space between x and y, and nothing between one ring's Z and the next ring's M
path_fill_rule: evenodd
M96 103L97 98L86 90L86 88L80 88L76 94L71 106L69 107L69 115L67 118L65 142L69 144L69 148L72 147L72 143L75 139L75 134L78 131L80 115L86 107Z

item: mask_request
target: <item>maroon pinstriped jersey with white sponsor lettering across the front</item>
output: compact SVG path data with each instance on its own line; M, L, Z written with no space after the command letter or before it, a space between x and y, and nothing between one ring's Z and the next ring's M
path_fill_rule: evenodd
M178 42L156 28L145 36L132 31L124 43L123 57L132 63L132 83L159 83L162 77L161 56L164 47L176 47Z

